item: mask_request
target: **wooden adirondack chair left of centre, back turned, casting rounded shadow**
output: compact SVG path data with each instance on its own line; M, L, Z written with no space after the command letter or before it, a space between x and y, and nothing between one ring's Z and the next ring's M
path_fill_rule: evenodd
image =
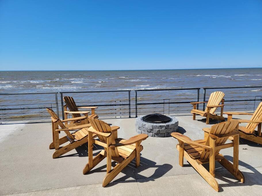
M119 127L108 125L104 121L98 119L89 119L92 127L89 127L88 137L88 163L83 168L83 174L87 174L98 163L106 158L106 176L103 180L103 187L108 185L116 176L127 166L134 158L136 158L136 167L140 164L140 152L143 146L140 145L142 140L148 138L146 134L139 134L128 140L117 138L117 129ZM92 139L91 135L97 134L99 140ZM93 158L93 143L103 146L97 156ZM112 169L111 161L117 162Z

